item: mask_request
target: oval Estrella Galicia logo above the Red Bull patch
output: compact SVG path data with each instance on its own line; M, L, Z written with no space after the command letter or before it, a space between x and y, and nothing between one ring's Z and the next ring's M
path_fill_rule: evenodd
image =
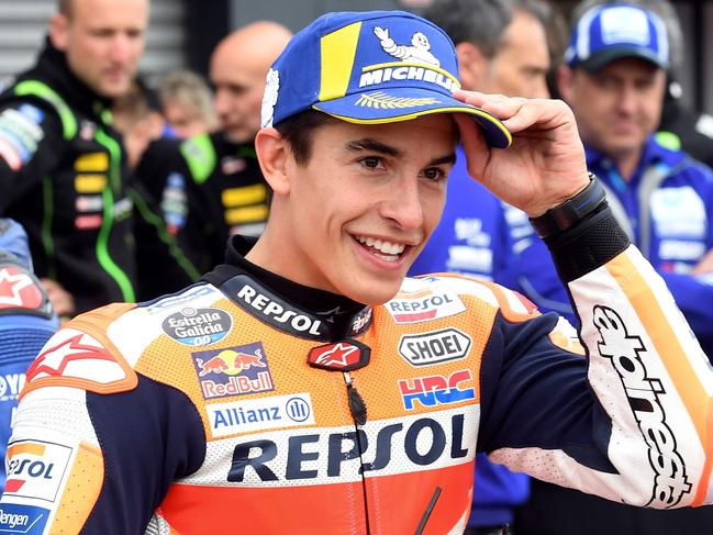
M219 309L185 306L164 320L164 333L187 346L214 344L227 335L233 326L231 315Z

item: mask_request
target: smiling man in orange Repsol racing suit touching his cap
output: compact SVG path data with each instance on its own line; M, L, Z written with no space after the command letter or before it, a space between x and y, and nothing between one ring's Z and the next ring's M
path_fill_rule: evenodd
M457 87L452 42L404 12L330 13L297 34L256 138L275 194L265 233L234 237L201 283L48 342L3 519L33 533L459 533L477 452L611 500L704 501L713 374L588 176L570 110ZM404 278L458 140L469 174L546 236L589 359L510 290Z

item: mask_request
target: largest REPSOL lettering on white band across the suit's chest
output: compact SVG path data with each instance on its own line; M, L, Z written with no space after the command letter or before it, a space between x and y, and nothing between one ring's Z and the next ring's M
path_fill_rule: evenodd
M281 439L246 441L233 450L227 481L309 482L453 466L472 459L476 426L474 414L452 413L369 422L342 433L290 433Z

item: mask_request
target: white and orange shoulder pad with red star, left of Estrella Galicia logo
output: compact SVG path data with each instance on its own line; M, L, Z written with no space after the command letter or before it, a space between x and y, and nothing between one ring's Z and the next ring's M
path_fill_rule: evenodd
M113 308L129 310L134 305ZM42 387L71 387L103 394L136 387L136 372L104 334L102 320L115 310L104 309L78 316L49 338L27 368L21 397Z

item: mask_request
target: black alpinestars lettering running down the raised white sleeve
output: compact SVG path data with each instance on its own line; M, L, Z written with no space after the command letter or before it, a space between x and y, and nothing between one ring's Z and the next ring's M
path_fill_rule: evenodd
M634 417L649 448L649 464L656 472L651 499L646 505L672 508L691 491L686 464L676 449L676 437L666 422L660 398L666 394L660 379L649 376L647 348L639 336L630 334L622 317L608 306L594 306L594 326L601 335L599 354L610 358L622 380Z

